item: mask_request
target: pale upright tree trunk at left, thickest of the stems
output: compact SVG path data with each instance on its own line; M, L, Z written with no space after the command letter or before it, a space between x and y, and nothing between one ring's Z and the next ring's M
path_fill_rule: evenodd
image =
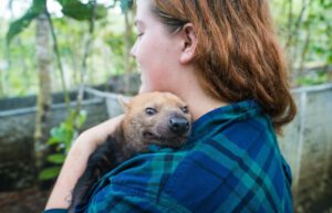
M51 46L50 25L46 14L41 14L35 20L37 26L37 70L39 78L39 92L37 100L37 120L34 130L34 155L38 171L44 164L46 152L46 131L51 106Z

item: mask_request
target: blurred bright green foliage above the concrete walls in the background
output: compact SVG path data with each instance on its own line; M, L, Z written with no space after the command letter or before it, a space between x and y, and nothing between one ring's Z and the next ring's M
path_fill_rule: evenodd
M14 0L17 1L17 0ZM45 0L43 0L45 1ZM61 6L71 8L80 0L58 0ZM40 0L31 1L40 3ZM87 58L86 84L103 84L111 75L121 74L124 70L124 18L118 9L124 12L124 9L132 9L133 0L110 0L108 8L101 11L107 12L105 19L98 19L95 22L94 42L91 49L90 57ZM291 60L290 65L293 66L293 81L295 84L303 82L298 79L304 75L300 72L303 62L304 68L310 64L310 67L319 64L332 63L332 1L331 0L272 0L271 11L278 28L279 35L288 52L288 58ZM302 2L308 2L304 7L302 18L300 18ZM91 11L91 2L81 3ZM31 8L34 8L31 6ZM38 7L37 7L38 8ZM97 6L98 8L98 6ZM83 9L83 10L85 10ZM116 10L117 9L117 10ZM38 10L29 9L31 13L25 17L25 24L19 22L24 20L22 17L18 23L12 22L8 31L7 38L11 40L9 46L10 63L7 68L0 72L1 93L4 96L23 96L35 94L38 81L35 75L35 32L33 26L33 17ZM74 8L69 9L69 13L63 12L64 17L52 17L55 34L58 38L59 51L64 66L65 78L69 89L77 87L80 82L80 70L83 58L87 38L89 25L87 21L76 21L70 14ZM77 9L81 10L81 9ZM73 12L80 13L80 12ZM87 12L91 14L91 12ZM103 12L102 12L103 13ZM34 15L32 15L34 14ZM73 14L75 15L75 14ZM82 14L83 17L85 15ZM98 9L96 9L96 18L98 18ZM132 17L131 17L132 18ZM89 15L82 18L87 20ZM133 18L132 18L133 19ZM80 20L80 18L79 18ZM300 22L299 22L300 21ZM30 23L30 25L29 25ZM14 26L17 24L17 26ZM27 28L29 25L29 28ZM25 30L24 30L25 29ZM6 32L8 30L8 20L0 17L0 41L6 41ZM15 36L19 32L19 36ZM135 32L131 32L131 42L134 41ZM307 38L309 43L307 44ZM15 36L15 38L14 38ZM290 38L291 36L291 38ZM12 40L12 38L14 38ZM6 46L0 44L0 63L7 64ZM134 60L133 60L134 61ZM135 70L134 63L131 61L132 70ZM55 62L55 60L53 60ZM55 65L54 65L55 66ZM3 66L2 66L3 67ZM0 67L1 68L1 67ZM96 71L97 70L97 71ZM295 74L299 72L298 74ZM305 78L305 77L304 77ZM331 78L331 77L330 77ZM58 72L52 73L52 89L59 92L62 89ZM324 78L325 79L325 78ZM307 82L307 81L304 81ZM320 81L319 81L320 82ZM302 83L301 83L302 84Z

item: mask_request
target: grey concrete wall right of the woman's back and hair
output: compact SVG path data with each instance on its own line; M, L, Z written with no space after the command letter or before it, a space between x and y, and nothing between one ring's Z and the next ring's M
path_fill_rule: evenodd
M293 89L298 115L280 137L298 212L332 192L332 84ZM332 203L332 199L331 199Z

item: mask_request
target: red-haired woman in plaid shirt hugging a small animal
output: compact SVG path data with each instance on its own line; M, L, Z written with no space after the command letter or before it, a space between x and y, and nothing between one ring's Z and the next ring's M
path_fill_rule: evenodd
M136 4L141 93L181 97L193 132L179 150L152 150L107 173L77 212L292 212L274 130L293 119L295 106L267 0ZM46 212L65 212L89 155L121 119L79 137Z

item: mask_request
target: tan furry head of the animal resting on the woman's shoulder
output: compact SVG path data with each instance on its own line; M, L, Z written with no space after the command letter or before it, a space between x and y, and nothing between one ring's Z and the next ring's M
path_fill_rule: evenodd
M124 135L138 146L179 147L189 136L191 115L188 106L170 93L139 94L123 105Z

